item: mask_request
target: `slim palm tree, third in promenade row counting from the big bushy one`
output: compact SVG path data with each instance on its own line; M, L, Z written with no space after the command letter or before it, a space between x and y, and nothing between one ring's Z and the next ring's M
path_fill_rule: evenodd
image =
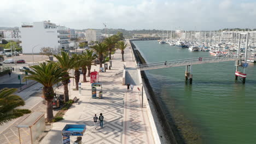
M75 71L74 71L74 76L75 76L75 90L78 90L78 82L79 82L79 79L80 79L80 71L79 71L79 69L80 69L81 66L82 66L81 56L80 56L80 55L77 55L76 53L74 53L74 54L72 55L72 57L75 59L74 65L73 65L73 69L75 70Z

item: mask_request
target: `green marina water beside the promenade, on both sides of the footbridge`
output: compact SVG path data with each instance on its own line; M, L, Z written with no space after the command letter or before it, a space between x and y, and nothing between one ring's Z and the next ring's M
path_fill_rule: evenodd
M210 56L153 40L133 43L147 63ZM186 143L256 142L256 64L249 63L245 85L235 81L234 64L193 65L193 85L184 82L185 66L146 71L166 117Z

